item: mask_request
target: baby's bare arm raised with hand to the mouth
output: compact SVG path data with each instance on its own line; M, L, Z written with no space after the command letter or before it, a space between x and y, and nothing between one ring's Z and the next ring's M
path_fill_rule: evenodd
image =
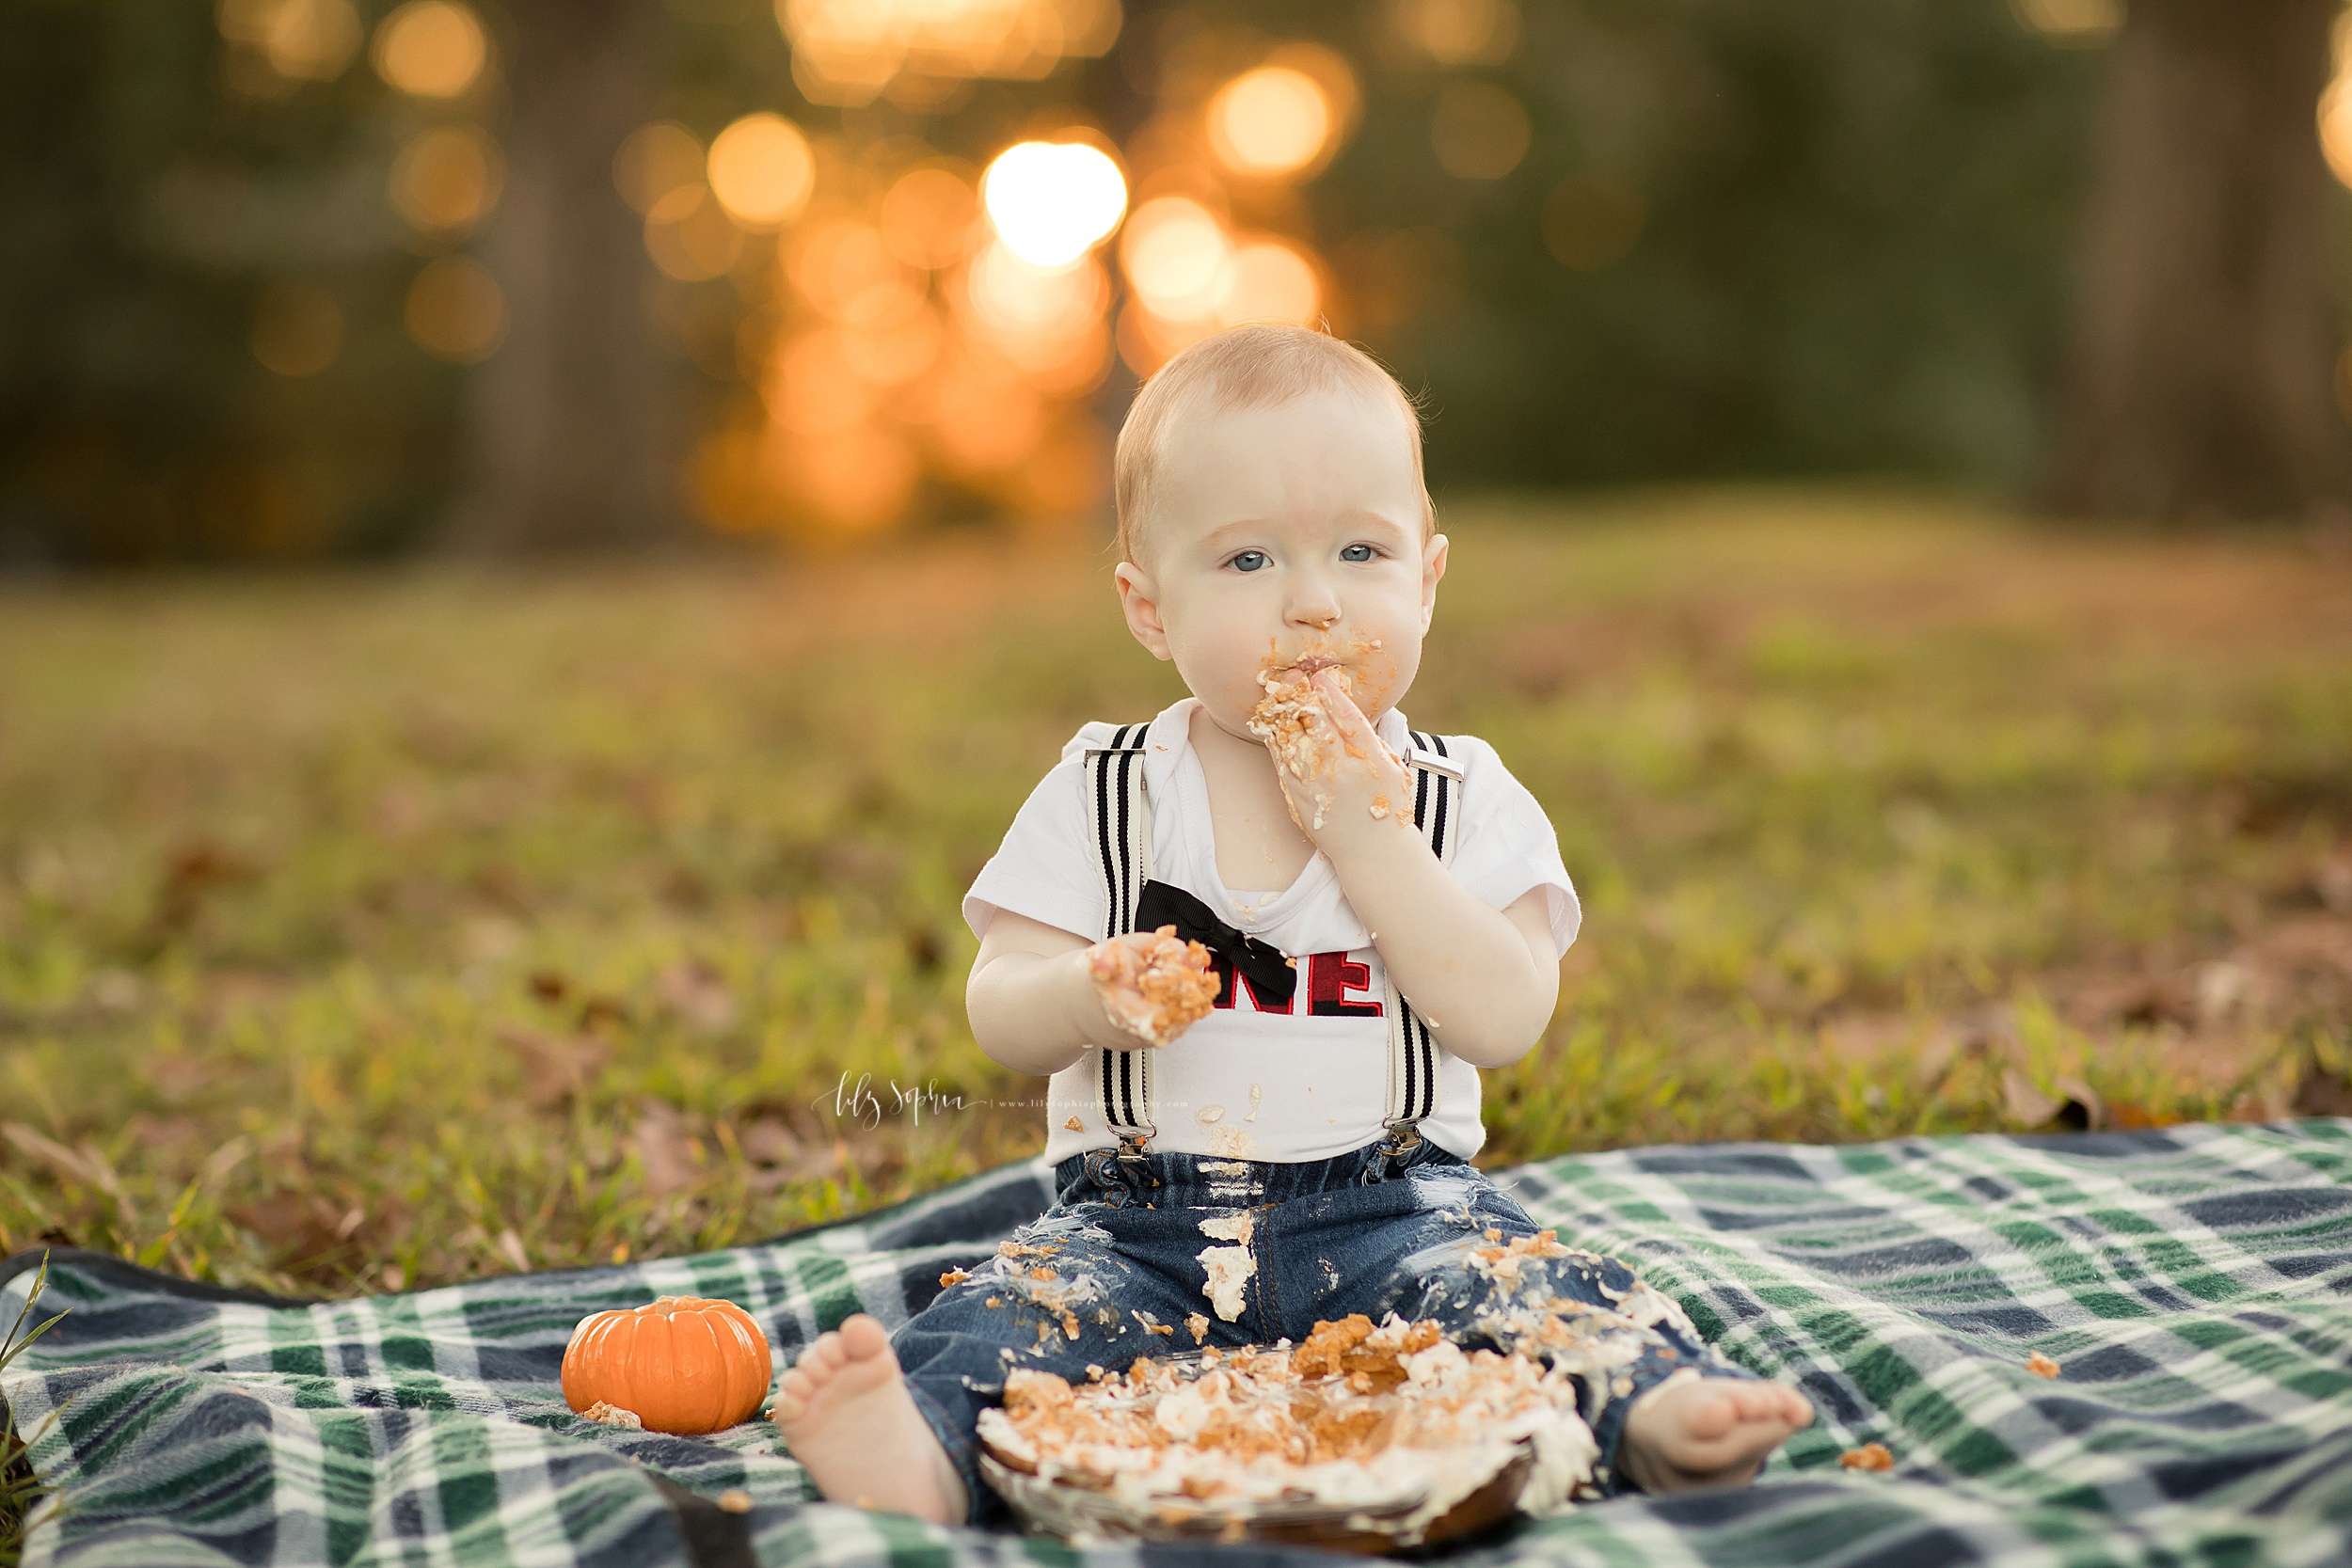
M1559 961L1543 889L1496 910L1465 889L1414 830L1411 776L1329 672L1315 675L1338 757L1315 827L1310 780L1279 769L1294 816L1331 858L1348 905L1371 931L1397 992L1472 1067L1505 1067L1543 1034L1559 1001ZM1378 816L1374 811L1378 809ZM1399 832L1402 827L1402 832Z

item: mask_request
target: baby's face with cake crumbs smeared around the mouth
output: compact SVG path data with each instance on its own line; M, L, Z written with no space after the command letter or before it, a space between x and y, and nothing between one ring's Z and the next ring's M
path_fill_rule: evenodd
M1357 393L1169 430L1120 599L1221 729L1249 738L1268 668L1336 665L1371 719L1404 698L1446 569L1409 442L1399 409Z

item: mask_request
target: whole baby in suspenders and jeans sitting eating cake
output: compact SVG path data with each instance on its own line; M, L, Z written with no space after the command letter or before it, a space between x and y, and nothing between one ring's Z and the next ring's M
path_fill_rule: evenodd
M1578 907L1496 752L1397 712L1446 571L1411 402L1331 336L1218 334L1136 397L1117 508L1127 625L1192 696L1082 729L964 900L971 1030L1051 1074L1058 1201L896 1335L821 1335L771 1410L793 1458L983 1523L1009 1368L1399 1312L1573 1371L1599 1490L1745 1483L1804 1396L1470 1164Z

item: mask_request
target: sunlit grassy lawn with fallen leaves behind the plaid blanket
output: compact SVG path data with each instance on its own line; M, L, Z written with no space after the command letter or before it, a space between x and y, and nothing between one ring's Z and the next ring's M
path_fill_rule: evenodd
M1856 491L1449 527L1406 708L1585 893L1482 1159L2352 1103L2340 564ZM0 1255L397 1291L1030 1152L957 898L1176 693L1042 543L0 588Z

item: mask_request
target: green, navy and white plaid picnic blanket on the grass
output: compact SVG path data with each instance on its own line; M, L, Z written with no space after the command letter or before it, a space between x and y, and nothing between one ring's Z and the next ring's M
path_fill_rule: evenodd
M1501 1175L1820 1420L1755 1488L1592 1505L1463 1563L2352 1561L2352 1121L1653 1147ZM1329 1563L1073 1554L816 1505L762 1420L614 1432L557 1392L586 1312L724 1295L781 1368L849 1312L915 1312L1047 1197L1011 1166L764 1246L346 1302L64 1253L45 1307L73 1314L0 1389L61 1488L26 1563ZM0 1324L33 1262L0 1265ZM1891 1472L1839 1465L1872 1441ZM748 1512L715 1505L731 1488Z

